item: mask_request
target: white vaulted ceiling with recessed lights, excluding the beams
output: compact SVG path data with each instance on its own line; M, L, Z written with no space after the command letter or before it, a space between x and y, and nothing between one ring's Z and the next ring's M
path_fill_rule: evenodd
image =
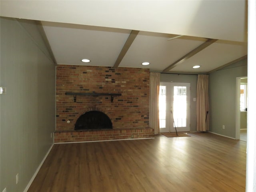
M58 64L114 66L132 30L140 31L119 67L207 73L247 54L245 0L3 1L1 16L39 20ZM180 38L168 40L176 35ZM144 61L149 66L142 66ZM193 65L201 68L192 69Z

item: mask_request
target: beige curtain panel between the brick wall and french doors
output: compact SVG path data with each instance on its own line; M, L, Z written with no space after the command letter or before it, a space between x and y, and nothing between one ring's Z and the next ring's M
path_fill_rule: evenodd
M150 128L154 129L154 134L159 133L159 87L160 73L150 72L150 95L149 95L149 116Z

